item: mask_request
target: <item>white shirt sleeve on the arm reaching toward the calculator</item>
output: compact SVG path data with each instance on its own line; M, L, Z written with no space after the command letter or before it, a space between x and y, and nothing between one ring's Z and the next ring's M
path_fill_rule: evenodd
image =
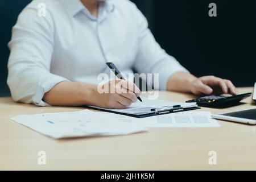
M168 55L159 44L148 28L148 23L144 15L135 7L134 15L136 16L139 32L139 48L134 69L139 73L159 74L158 85L155 89L166 90L167 81L177 72L188 72L172 56ZM154 82L152 84L154 84ZM159 88L158 88L159 87Z

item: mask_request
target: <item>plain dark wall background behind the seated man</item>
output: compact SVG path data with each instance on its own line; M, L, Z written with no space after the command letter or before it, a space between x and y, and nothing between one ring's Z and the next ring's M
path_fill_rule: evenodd
M71 0L72 1L72 0ZM0 0L0 96L6 85L7 43L29 0ZM256 1L133 0L147 17L156 40L196 76L216 75L237 86L256 81ZM208 5L217 4L217 17Z

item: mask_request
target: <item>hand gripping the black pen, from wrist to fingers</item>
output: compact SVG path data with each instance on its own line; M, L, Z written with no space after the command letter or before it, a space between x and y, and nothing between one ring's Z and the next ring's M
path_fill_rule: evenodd
M105 93L101 93L105 90ZM139 88L125 80L112 80L104 85L98 85L94 90L93 104L108 109L125 109L141 95Z

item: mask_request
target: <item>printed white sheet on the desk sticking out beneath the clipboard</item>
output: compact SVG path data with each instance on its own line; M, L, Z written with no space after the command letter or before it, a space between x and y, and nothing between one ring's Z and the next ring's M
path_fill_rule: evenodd
M150 118L133 118L126 115L107 114L112 115L112 117L115 117L124 123L134 123L146 128L220 127L218 121L213 119L212 113L208 111L186 111L183 113L158 115Z

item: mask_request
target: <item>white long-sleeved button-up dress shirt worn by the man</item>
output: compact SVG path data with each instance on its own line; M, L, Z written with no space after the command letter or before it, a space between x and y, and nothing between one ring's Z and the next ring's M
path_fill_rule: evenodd
M39 4L46 16L39 16ZM15 101L48 106L46 92L62 81L97 84L112 61L122 73L159 73L159 88L187 70L168 55L134 3L107 0L98 18L79 0L34 0L20 13L9 43L7 84Z

